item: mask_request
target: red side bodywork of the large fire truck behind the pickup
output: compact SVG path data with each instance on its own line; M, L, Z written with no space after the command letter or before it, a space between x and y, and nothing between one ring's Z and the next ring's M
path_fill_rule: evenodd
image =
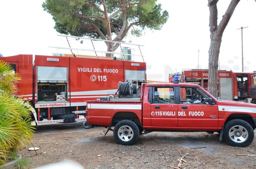
M49 58L58 61L49 61L47 60ZM72 99L72 103L83 102L83 104L85 101L93 98L114 94L117 90L118 82L126 80L126 70L146 71L145 62L112 59L46 55L35 55L33 59L33 55L31 54L19 54L2 57L1 59L4 59L8 63L16 64L16 71L22 77L18 83L19 93L17 95L23 96L27 100L32 100L33 92L37 93L38 90L37 86L33 87L33 82L37 84L39 81L38 66L67 67L67 82L70 83L68 92L71 94L69 96ZM96 79L92 78L92 75ZM37 100L35 101L38 102Z

